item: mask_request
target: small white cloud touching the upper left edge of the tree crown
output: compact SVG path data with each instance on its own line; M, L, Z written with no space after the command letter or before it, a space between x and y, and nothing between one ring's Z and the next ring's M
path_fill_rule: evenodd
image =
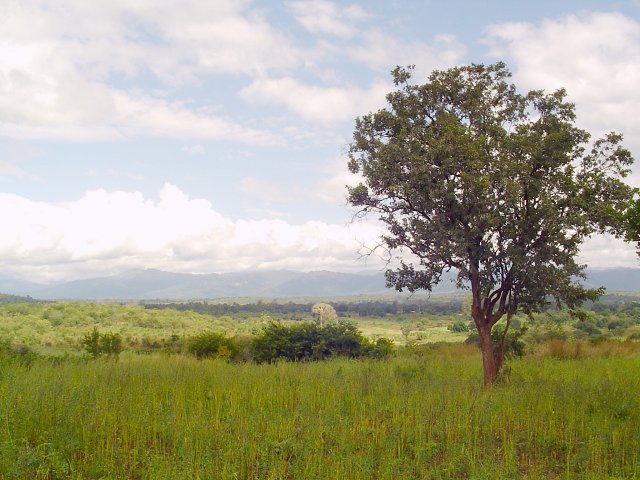
M369 88L305 85L291 77L259 78L240 94L250 102L282 104L307 120L329 124L353 120L385 105L390 82L377 81Z

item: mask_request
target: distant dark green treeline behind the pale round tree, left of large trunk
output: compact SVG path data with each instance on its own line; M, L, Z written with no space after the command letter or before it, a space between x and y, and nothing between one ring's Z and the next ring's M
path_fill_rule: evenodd
M460 313L461 298L448 299L416 299L407 301L368 300L368 301L338 301L329 303L340 317L362 316L376 317L398 314L430 314L454 315ZM213 316L237 314L269 314L295 318L311 312L315 302L264 302L258 300L253 303L209 303L207 301L180 303L144 303L146 309L172 308L178 311L192 311Z

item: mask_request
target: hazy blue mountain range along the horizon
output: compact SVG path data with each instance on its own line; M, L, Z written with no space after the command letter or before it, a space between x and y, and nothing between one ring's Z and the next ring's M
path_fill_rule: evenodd
M609 291L640 291L640 268L592 269L585 284ZM433 293L456 291L449 274ZM329 297L391 293L384 274L289 270L190 274L131 270L119 275L43 285L0 277L0 292L43 300L206 299L225 297Z

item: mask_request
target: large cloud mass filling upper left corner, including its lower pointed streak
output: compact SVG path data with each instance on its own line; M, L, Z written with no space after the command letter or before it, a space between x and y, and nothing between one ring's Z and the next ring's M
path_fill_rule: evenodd
M9 0L0 58L2 135L272 143L269 133L180 100L181 88L213 74L291 68L298 53L248 2ZM149 89L149 79L165 90Z

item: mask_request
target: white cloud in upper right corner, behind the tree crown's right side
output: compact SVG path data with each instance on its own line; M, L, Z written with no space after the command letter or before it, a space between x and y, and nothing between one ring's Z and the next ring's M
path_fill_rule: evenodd
M490 53L511 58L522 88L566 87L577 123L597 136L625 134L640 151L640 23L620 13L583 12L538 24L487 29Z

